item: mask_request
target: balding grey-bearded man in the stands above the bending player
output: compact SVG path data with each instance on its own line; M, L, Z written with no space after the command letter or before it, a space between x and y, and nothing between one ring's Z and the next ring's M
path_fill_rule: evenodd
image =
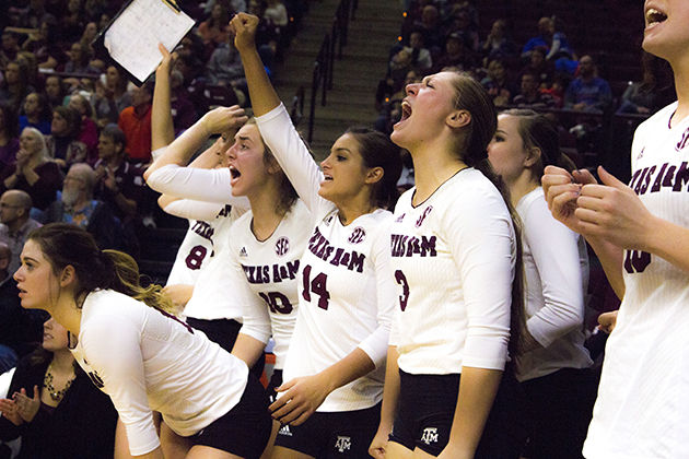
M122 228L110 208L93 199L95 178L95 172L86 163L72 164L62 192L45 212L44 223L72 223L91 233L101 250L118 249Z

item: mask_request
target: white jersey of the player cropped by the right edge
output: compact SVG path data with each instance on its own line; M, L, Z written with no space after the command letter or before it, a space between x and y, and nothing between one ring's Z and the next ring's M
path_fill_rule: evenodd
M676 108L637 129L630 187L651 213L689 227L689 117L670 128ZM624 250L622 273L584 456L688 458L689 273L640 250Z

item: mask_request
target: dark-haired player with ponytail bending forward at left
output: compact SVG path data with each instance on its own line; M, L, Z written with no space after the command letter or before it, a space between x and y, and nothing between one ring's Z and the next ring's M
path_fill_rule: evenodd
M141 287L131 257L102 252L85 231L57 223L32 232L21 258L22 306L48 311L77 339L72 353L110 396L132 456L260 456L270 432L260 384L170 315L160 287ZM160 439L152 410L165 421Z

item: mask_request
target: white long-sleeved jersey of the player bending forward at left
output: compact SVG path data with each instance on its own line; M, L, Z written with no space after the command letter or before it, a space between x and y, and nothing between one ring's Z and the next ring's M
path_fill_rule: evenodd
M201 331L129 296L90 293L80 327L72 354L113 400L132 456L160 445L153 411L186 437L229 412L244 393L244 362Z

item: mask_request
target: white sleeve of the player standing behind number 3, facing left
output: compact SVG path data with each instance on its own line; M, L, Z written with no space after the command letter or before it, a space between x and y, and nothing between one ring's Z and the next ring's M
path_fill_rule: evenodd
M584 292L577 235L554 220L545 199L535 200L524 217L526 239L538 269L544 307L526 328L544 348L584 322Z

